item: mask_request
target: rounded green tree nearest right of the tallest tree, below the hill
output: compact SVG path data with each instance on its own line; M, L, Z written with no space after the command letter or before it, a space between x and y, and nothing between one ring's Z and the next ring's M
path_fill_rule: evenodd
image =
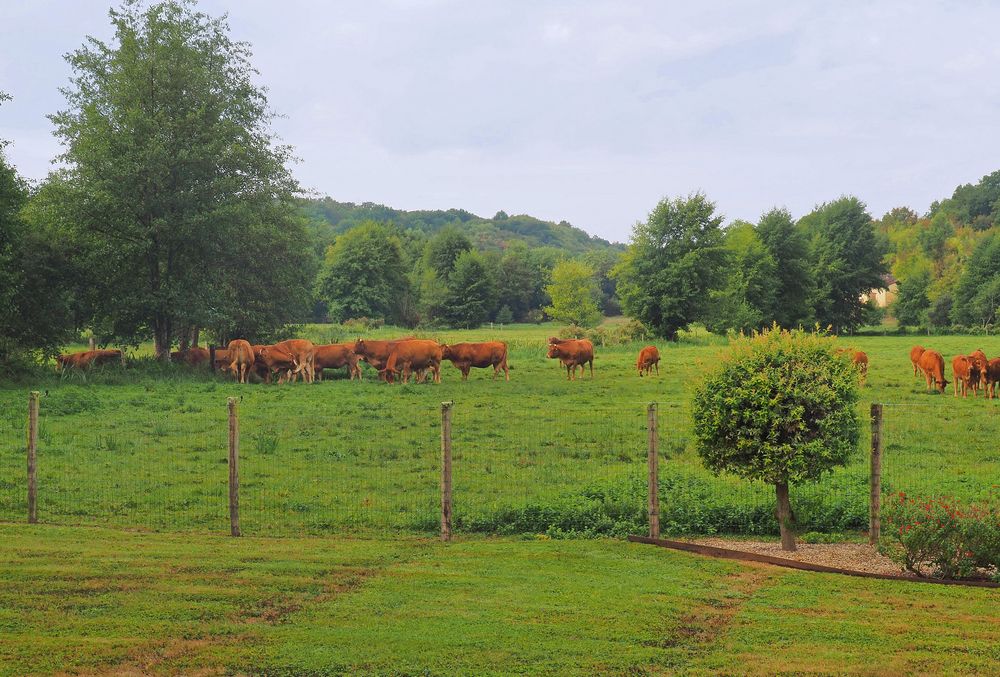
M338 237L326 252L318 293L336 322L370 317L403 323L410 285L399 236L369 221Z

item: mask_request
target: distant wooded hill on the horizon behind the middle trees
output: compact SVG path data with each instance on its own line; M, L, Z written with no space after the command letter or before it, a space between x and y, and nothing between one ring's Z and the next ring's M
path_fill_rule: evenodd
M325 246L363 221L392 222L402 230L417 230L433 235L445 226L456 226L478 249L503 249L508 243L522 240L532 247L557 247L570 254L592 250L623 250L625 245L588 235L566 221L553 223L533 216L508 216L498 212L493 218L477 216L464 209L406 211L365 202L337 202L329 197L301 200L317 241Z

